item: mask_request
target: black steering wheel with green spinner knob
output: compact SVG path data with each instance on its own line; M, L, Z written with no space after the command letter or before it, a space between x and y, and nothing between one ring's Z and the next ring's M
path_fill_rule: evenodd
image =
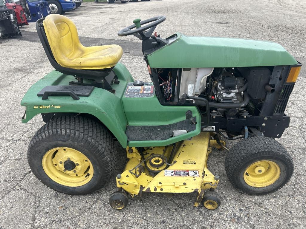
M122 36L134 35L140 40L146 40L151 37L156 26L162 23L164 20L166 20L166 16L156 16L156 17L152 17L150 19L144 20L144 21L141 21L139 18L137 18L133 20L133 23L134 23L133 25L130 25L124 29L119 30L118 36L122 37ZM144 24L148 24L148 25L141 27L141 25L144 25Z

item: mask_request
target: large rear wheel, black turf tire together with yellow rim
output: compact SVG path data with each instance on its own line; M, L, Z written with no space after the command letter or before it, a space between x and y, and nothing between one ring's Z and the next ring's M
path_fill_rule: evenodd
M108 183L116 159L108 130L81 116L62 116L47 122L28 148L34 175L55 191L71 195L88 194Z

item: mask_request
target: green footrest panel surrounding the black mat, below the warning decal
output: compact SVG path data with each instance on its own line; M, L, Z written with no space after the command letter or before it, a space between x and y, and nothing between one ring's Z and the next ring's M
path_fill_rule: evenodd
M190 106L162 106L156 95L148 98L122 98L125 116L128 125L168 125L186 119L185 113L192 111L196 116L196 130L175 136L167 140L156 141L129 141L130 147L166 146L188 139L200 133L201 115L196 107Z

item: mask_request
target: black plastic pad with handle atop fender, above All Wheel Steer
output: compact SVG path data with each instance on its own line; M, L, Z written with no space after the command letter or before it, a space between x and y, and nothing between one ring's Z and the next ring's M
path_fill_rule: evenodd
M58 86L45 86L37 96L43 96L45 91L73 91L77 96L90 96L94 86L71 86L71 85L58 85Z

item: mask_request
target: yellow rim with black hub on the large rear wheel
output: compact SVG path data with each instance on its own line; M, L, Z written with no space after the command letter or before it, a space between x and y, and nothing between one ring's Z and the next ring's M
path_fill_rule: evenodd
M54 182L68 186L79 187L87 184L94 175L90 160L68 147L56 147L43 156L43 170Z

